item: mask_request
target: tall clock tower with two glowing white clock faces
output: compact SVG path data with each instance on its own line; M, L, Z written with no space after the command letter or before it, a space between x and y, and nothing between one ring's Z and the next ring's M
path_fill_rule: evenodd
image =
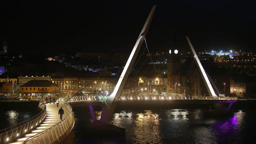
M176 40L175 34L172 41L168 45L168 56L167 56L167 81L173 88L178 87L179 84L179 70L180 70L180 45ZM177 89L176 89L177 90ZM167 92L173 91L172 88L167 88ZM178 91L178 90L177 90ZM174 91L173 91L174 93Z

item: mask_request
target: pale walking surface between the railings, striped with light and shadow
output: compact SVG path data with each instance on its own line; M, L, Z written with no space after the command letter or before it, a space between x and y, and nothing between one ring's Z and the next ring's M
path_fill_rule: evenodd
M57 104L46 104L46 117L45 121L42 122L36 129L31 131L30 133L24 135L21 138L18 138L16 141L13 141L12 143L19 144L23 143L27 138L34 136L42 131L45 131L49 129L50 127L56 125L59 123L60 120L60 115L58 115L58 111L60 109L60 105L57 108ZM62 120L65 119L68 116L69 112L64 110L64 115L62 116Z

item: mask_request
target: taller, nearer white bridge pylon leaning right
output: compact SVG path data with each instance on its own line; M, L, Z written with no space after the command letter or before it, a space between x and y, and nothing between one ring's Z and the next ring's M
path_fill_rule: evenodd
M101 112L101 117L99 121L102 122L103 124L107 124L107 125L109 124L111 116L115 110L116 104L125 86L126 80L129 76L129 73L131 72L132 66L134 65L136 57L140 51L140 47L144 41L144 38L146 37L155 9L156 9L156 5L152 7L148 15L148 18L140 32L140 35L134 45L134 48L132 49L132 52L126 62L124 70L122 71L121 76L116 84L116 87L114 88L113 92L110 94L109 98L105 101L105 104L102 106L102 112Z

